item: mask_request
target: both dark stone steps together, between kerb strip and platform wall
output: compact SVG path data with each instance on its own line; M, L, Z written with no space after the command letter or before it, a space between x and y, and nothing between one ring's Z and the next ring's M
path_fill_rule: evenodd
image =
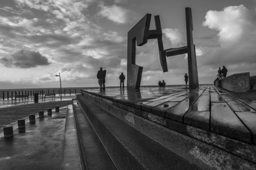
M82 95L73 112L83 169L201 169Z

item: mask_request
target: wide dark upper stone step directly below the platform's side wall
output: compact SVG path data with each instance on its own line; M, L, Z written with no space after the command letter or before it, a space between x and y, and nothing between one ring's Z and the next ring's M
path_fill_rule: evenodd
M117 169L200 169L82 95L77 101Z

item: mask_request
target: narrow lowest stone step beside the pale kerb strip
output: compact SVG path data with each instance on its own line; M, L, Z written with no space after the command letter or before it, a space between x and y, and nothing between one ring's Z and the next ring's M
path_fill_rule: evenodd
M77 101L73 100L72 105L75 115L82 168L86 170L116 169L86 115L77 104Z

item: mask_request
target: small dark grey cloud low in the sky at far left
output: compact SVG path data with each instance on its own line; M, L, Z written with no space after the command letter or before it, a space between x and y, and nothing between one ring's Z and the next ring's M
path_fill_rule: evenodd
M10 57L1 58L1 63L6 67L31 68L43 65L49 65L48 59L39 52L19 50Z

